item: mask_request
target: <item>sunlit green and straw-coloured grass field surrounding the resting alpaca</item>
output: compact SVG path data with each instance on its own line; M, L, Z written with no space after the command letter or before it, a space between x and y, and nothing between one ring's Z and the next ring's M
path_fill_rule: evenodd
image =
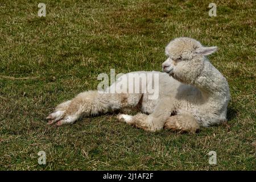
M0 169L256 169L255 1L214 1L216 17L212 0L40 2L46 17L39 1L0 1ZM148 133L116 114L46 125L57 104L97 89L100 73L160 71L179 36L219 47L209 59L229 82L227 123L195 135Z

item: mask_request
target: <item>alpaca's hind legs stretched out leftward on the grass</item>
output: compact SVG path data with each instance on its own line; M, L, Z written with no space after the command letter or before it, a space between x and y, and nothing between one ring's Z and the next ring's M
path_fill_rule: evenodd
M48 115L49 125L57 126L72 124L82 116L96 115L121 109L134 107L138 104L142 94L100 93L97 90L82 92L73 100L65 101Z

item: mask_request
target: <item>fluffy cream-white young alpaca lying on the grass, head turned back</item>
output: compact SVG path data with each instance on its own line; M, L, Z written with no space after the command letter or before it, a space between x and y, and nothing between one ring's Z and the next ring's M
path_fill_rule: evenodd
M191 38L176 38L165 49L168 59L162 64L163 72L133 72L158 74L159 96L150 100L149 93L109 93L89 90L73 100L58 105L48 115L48 124L57 126L74 123L82 116L110 113L137 108L136 115L118 114L120 121L146 131L162 129L195 133L200 126L218 124L226 119L230 100L229 85L224 76L209 62L207 55L217 47L203 47ZM129 74L129 73L127 73ZM122 82L123 75L117 82ZM152 82L147 82L152 84ZM110 85L106 90L110 90ZM127 89L127 88L125 88Z

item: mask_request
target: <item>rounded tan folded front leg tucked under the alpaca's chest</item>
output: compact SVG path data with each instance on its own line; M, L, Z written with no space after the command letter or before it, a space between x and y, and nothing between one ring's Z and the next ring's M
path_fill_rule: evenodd
M174 131L185 131L188 133L196 133L200 125L192 114L182 113L169 117L164 124L164 129Z

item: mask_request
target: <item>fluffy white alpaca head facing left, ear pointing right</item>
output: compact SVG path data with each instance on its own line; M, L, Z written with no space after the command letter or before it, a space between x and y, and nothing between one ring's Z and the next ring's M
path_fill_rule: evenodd
M163 71L177 80L188 80L200 73L205 56L215 51L217 47L204 47L195 39L176 38L166 46L168 59L162 64Z

